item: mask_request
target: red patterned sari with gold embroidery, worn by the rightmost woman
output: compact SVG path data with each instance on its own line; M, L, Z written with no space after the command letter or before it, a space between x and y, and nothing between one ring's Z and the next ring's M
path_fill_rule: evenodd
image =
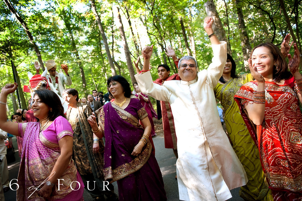
M252 104L258 83L244 84L235 100L241 115L258 145L262 169L274 200L302 198L302 114L294 80L283 85L265 82L265 116L262 125L255 126L248 117L245 105Z

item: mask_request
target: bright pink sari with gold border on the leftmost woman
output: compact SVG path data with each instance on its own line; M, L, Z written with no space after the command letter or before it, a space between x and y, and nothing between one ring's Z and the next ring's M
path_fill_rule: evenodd
M43 182L49 177L60 156L59 140L65 135L73 136L71 125L62 116L57 117L42 132L40 132L39 122L21 123L19 135L23 138L23 150L18 174L17 200L44 201L44 198L38 196L36 188L40 189L44 185ZM73 160L70 160L69 166L60 179L64 179L64 181L60 180L60 184L63 185L60 185L60 190L58 190L58 183L55 183L49 200L84 200L84 184ZM72 190L70 185L75 190Z

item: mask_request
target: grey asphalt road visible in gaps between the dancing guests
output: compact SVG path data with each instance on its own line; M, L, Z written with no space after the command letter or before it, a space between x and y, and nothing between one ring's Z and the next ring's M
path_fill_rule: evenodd
M160 170L162 172L162 177L165 184L165 190L167 193L168 201L178 201L179 195L178 195L178 185L177 180L175 179L176 176L176 158L173 154L172 149L165 149L164 148L164 138L161 136L156 136L153 138L154 146L155 146L155 153L156 153L156 159L158 161ZM18 148L17 148L17 141L16 138L13 137L13 144L15 147L15 157L16 162L8 164L8 170L9 170L9 179L17 179L18 177L18 170L19 170L19 163L20 158L18 156ZM117 184L116 182L113 183L115 186L115 192L117 192ZM15 186L13 186L14 188ZM233 198L229 199L229 201L243 201L242 198L238 195L238 190L233 189L231 190L231 193L233 195ZM5 201L15 201L16 200L16 191L9 190L8 192L4 193ZM89 193L87 193L84 190L84 199L85 201L92 201L92 197Z

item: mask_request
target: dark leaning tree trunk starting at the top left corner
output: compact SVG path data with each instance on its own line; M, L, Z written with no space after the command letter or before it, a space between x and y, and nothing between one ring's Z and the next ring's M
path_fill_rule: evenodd
M22 27L24 28L25 32L26 32L26 35L27 37L29 38L29 41L30 43L33 45L34 47L34 50L37 54L37 57L38 57L38 61L40 63L40 66L42 68L42 70L44 71L45 68L44 68L44 64L43 64L43 61L42 61L42 57L41 57L41 53L40 53L40 50L37 46L37 44L34 42L34 38L33 36L31 35L31 32L29 31L28 27L27 27L27 24L26 22L20 17L20 15L17 13L17 11L15 10L15 8L11 5L11 2L9 0L4 0L6 6L8 7L9 11L11 11L12 14L14 14L17 18L17 20L20 22L20 24L22 25Z

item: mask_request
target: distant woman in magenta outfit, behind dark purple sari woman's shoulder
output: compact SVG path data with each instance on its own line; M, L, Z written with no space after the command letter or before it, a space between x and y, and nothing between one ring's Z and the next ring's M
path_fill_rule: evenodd
M140 88L138 87L138 85L136 85L134 87L134 89L136 91L135 96L137 96L137 98L140 100L140 103L146 109L149 121L151 123L151 136L154 137L154 136L156 136L156 133L155 133L155 127L154 127L153 117L157 118L157 114L156 114L156 112L155 112L155 110L153 108L153 105L151 104L151 102L149 100L149 97L147 95L143 94L140 91Z

